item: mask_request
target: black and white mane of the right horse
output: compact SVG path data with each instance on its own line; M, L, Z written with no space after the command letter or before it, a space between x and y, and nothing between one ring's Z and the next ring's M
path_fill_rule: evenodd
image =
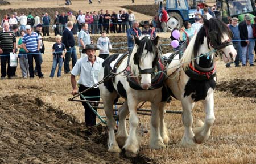
M221 44L222 38L224 38L224 34L228 34L230 37L230 32L225 23L216 18L211 18L210 20L204 19L204 24L201 26L200 30L197 34L192 38L189 42L187 49L184 52L183 57L181 58L181 63L183 63L183 68L187 69L191 61L191 58L197 57L199 53L200 46L204 43L204 38L207 36L207 28L208 32L216 33L216 42L217 44ZM231 38L231 37L230 37Z

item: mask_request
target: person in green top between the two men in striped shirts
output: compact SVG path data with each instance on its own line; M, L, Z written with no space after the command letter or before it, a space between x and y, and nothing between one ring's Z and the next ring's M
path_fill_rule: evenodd
M22 29L20 31L20 38L19 38L19 41L18 41L18 48L19 49L19 55L18 55L18 58L19 58L19 65L20 65L20 69L22 70L22 77L24 79L27 79L27 76L28 76L28 59L27 59L27 53L26 51L22 48L22 37L25 35L25 31L24 29Z

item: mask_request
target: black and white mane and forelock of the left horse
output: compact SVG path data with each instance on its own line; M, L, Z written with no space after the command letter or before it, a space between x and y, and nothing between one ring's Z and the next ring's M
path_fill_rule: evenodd
M142 35L141 37L139 37L139 40L141 42L139 45L135 43L133 51L131 52L130 61L129 61L129 66L130 66L131 72L133 73L133 76L139 75L138 65L134 64L135 60L137 61L137 63L139 63L139 60L141 59L143 60L143 58L146 57L148 52L152 52L152 54L158 55L158 48L154 44L154 41L151 40L150 36ZM144 50L147 50L146 54L143 54Z

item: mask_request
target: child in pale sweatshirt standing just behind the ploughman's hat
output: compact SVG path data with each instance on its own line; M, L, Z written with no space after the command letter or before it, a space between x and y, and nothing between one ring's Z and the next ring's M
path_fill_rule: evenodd
M102 59L106 59L109 57L109 49L112 50L112 45L109 41L109 38L106 37L106 31L101 32L101 37L98 38L97 48L100 49L100 55L98 55Z

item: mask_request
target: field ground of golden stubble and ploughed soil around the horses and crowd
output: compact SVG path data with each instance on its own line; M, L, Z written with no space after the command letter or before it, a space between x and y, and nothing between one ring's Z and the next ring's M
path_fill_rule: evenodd
M29 7L63 7L57 1L25 1ZM68 6L74 11L119 10L131 1L72 1ZM24 3L24 1L23 1ZM27 8L22 2L0 6L5 8ZM60 3L58 1L58 3ZM137 1L135 5L152 4L153 1ZM90 7L90 8L88 8ZM149 20L151 16L135 13L138 20ZM169 33L161 33L168 38ZM98 35L93 36L99 37ZM125 38L123 34L112 34L113 43ZM50 79L53 42L45 42L42 72L44 79L21 79L18 66L16 79L0 81L0 163L256 163L256 68L226 68L217 62L217 90L214 92L216 121L208 141L198 148L180 148L183 124L180 114L167 114L167 128L171 142L166 149L151 150L148 147L150 131L142 138L137 158L126 158L123 154L107 152L106 128L98 126L86 129L84 109L71 98L70 76ZM125 45L123 45L125 46ZM120 50L121 53L124 50ZM249 79L249 80L248 80ZM149 104L143 106L148 108ZM168 110L181 110L179 101L172 100ZM103 115L104 112L99 110ZM204 109L197 103L193 109L194 120L204 120ZM141 122L150 130L149 116L139 115ZM127 122L128 124L129 122Z

